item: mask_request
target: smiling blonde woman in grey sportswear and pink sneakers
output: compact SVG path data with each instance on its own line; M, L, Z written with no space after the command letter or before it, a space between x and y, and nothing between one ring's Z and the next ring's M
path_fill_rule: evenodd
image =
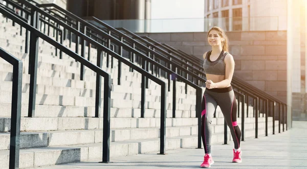
M236 122L236 99L230 85L234 60L228 52L228 38L225 32L213 27L208 32L208 42L212 51L206 52L204 70L206 73L206 90L202 103L202 139L205 149L204 162L201 167L209 168L214 163L211 156L211 120L216 106L220 106L234 142L232 162L241 162L241 131Z

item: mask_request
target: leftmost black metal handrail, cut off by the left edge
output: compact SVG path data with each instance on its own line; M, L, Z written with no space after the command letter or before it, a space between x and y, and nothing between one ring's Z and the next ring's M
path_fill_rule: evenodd
M9 168L19 168L21 88L23 86L22 82L23 62L5 52L5 50L3 50L1 47L0 47L0 57L2 57L4 60L13 65Z

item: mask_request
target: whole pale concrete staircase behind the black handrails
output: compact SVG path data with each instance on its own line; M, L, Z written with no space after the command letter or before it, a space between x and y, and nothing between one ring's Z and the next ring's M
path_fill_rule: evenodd
M25 35L19 36L19 31L18 25L12 27L11 20L6 22L6 19L0 16L0 46L21 59L24 64L19 167L38 167L102 158L103 118L93 117L96 74L85 68L84 81L80 81L80 63L65 54L60 60L55 56L54 47L41 39L35 117L25 117L29 100L29 56L24 54ZM68 41L64 41L64 45L69 46L68 44ZM73 43L71 50L74 49ZM96 56L97 51L91 49L91 62L94 64ZM12 66L0 59L0 67L0 168L8 168ZM114 68L111 69L106 67L106 59L103 58L102 68L111 74L114 82L111 93L111 161L115 156L158 152L160 86L149 80L146 89L145 118L140 118L141 74L136 71L132 73L128 66L122 65L122 85L117 85L117 60L114 60ZM163 80L167 82L167 79ZM188 86L188 94L185 94L184 87L184 83L177 82L176 118L171 118L172 92L167 92L166 151L197 147L195 89ZM101 92L103 93L103 90ZM255 118L252 117L252 110L253 107L249 107L249 117L245 114L246 138L253 138L255 135ZM268 120L269 134L272 134L273 119L268 117ZM240 126L241 118L237 121ZM275 124L276 132L277 120ZM224 118L220 109L216 110L212 128L212 142L223 142ZM264 136L265 118L262 114L258 119L258 128L259 136ZM231 140L229 131L228 138ZM232 144L231 141L230 143Z

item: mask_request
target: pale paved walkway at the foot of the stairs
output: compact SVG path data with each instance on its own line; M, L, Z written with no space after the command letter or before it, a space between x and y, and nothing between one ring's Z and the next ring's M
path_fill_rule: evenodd
M307 122L293 122L293 128L284 133L242 142L242 163L231 163L232 147L232 142L228 145L213 144L212 156L215 163L211 168L307 168ZM192 148L167 153L111 158L113 163L109 164L98 163L101 159L97 159L39 168L200 168L204 156L203 150Z

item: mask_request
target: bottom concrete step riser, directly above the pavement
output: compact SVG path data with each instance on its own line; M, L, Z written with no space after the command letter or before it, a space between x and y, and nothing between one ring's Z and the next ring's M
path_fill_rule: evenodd
M277 127L277 126L276 126ZM271 127L269 127L269 133ZM254 138L254 130L245 131L247 139ZM259 137L264 136L265 130L258 131ZM229 144L231 136L228 134ZM179 148L196 148L198 144L198 136L180 136L170 137L166 139L166 151ZM213 134L212 143L224 142L223 134ZM203 146L202 146L203 147ZM110 142L110 161L113 157L157 153L160 149L160 139L140 139L129 141ZM34 149L21 149L19 167L39 167L46 165L55 165L61 163L79 162L81 160L102 159L102 143L77 144L73 146L56 146ZM167 153L167 152L166 152ZM0 162L1 168L8 168L9 164L9 150L1 150ZM48 159L48 160L46 160Z

